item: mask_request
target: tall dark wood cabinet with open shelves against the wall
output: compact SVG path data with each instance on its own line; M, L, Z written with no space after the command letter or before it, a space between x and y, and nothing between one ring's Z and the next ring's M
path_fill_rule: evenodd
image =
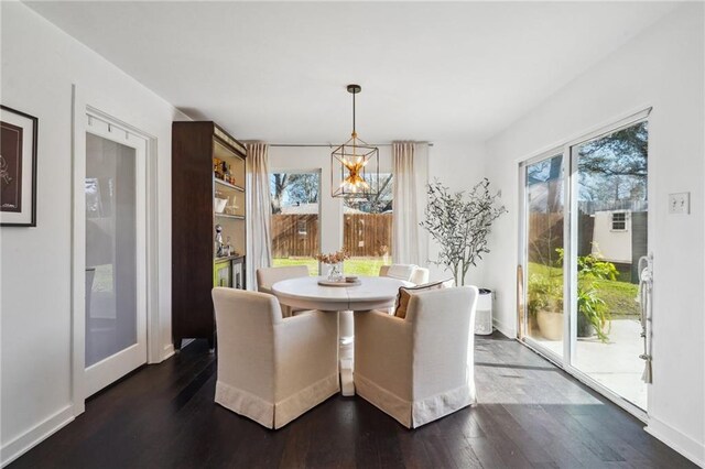
M172 124L172 337L176 350L188 338L208 339L213 348L210 291L214 285L246 286L245 159L245 145L214 122ZM220 243L216 227L221 230Z

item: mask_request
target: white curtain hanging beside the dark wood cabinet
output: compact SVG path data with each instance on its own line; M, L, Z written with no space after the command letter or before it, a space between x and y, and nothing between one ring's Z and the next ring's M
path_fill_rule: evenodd
M272 264L269 145L247 145L247 286L257 290L256 272Z

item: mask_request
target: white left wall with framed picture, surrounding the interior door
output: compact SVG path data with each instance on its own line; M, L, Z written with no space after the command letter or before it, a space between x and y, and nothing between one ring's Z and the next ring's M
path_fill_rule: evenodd
M83 407L72 396L72 84L88 105L158 139L163 356L171 350L171 122L185 116L22 3L1 9L2 103L39 118L37 226L0 229L7 463Z

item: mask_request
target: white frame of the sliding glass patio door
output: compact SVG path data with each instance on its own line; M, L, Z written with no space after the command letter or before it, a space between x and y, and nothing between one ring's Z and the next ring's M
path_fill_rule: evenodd
M582 143L588 142L600 135L609 132L615 132L620 129L623 129L629 126L633 126L641 121L648 121L652 111L652 107L642 107L639 111L630 112L625 117L614 119L608 121L608 123L603 123L593 128L589 132L573 137L565 141L565 143L560 145L552 145L550 150L543 150L540 153L534 153L523 160L518 162L517 168L519 173L519 236L518 236L518 261L522 266L524 275L523 275L523 292L524 295L527 293L528 286L528 276L525 275L527 271L527 261L528 261L528 252L527 252L527 194L525 194L525 168L528 165L536 163L539 161L545 160L547 157L556 156L558 154L563 157L563 192L565 194L564 197L564 218L563 218L563 242L565 252L568 252L568 257L564 257L563 260L563 269L564 273L567 271L570 273L570 282L564 281L563 286L563 297L567 298L567 301L563 302L563 317L566 318L563 321L563 357L553 353L551 350L542 347L539 341L533 340L524 330L519 331L520 324L517 324L518 330L518 340L524 346L529 347L534 352L544 357L546 360L551 361L556 367L563 369L568 374L573 375L575 379L581 381L583 384L588 388L599 392L603 396L619 405L637 418L642 422L648 422L648 406L649 400L647 399L647 408L638 407L631 402L627 401L619 394L615 393L610 389L600 384L593 378L590 378L587 373L575 368L572 362L572 353L575 350L577 342L577 321L574 318L574 315L577 315L577 293L575 292L574 285L577 285L577 243L574 242L574 237L577 237L577 184L573 184L573 179L577 173L577 155L573 149ZM650 200L655 200L653 194L653 185L648 184L647 194ZM649 217L648 229L652 230L653 217ZM649 246L651 246L651 240L649 240ZM651 252L651 249L648 249ZM565 279L565 277L564 277ZM527 326L527 302L522 298L523 303L523 324Z

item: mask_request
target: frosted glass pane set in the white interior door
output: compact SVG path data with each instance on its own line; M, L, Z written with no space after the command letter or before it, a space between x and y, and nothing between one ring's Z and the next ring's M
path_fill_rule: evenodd
M86 138L86 367L137 342L134 149ZM90 270L88 272L90 272Z

